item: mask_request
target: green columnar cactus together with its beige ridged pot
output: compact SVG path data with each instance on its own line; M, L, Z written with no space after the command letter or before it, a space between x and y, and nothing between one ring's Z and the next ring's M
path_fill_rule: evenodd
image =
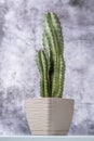
M65 79L64 41L59 20L44 17L43 48L37 53L41 98L26 101L26 116L32 134L67 134L73 100L62 99Z

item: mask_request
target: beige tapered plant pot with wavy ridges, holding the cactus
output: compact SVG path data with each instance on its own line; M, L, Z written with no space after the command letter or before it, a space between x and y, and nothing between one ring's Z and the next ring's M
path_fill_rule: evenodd
M26 101L26 117L32 136L67 134L73 113L73 100L35 98Z

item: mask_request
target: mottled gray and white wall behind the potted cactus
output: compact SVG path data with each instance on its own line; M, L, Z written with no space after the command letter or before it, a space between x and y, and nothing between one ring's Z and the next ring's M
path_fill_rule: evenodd
M0 134L30 134L25 100L39 97L35 55L46 11L64 31L64 98L76 102L68 134L94 134L94 0L0 0Z

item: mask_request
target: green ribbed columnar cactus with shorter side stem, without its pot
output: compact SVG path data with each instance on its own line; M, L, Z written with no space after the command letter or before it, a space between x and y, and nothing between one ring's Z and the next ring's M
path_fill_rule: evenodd
M41 97L62 98L65 79L64 41L62 27L55 13L44 17L43 49L38 51Z

